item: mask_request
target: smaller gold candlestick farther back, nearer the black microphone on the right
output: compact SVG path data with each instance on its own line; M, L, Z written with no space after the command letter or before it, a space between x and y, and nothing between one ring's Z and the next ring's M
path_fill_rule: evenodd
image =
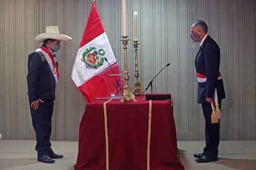
M135 51L135 83L134 83L134 94L144 94L141 84L139 82L139 68L138 68L138 41L134 41Z

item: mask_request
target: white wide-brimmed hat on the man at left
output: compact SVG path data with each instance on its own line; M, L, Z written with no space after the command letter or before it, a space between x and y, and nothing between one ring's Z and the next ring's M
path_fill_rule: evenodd
M72 38L66 34L60 34L58 26L46 26L45 33L38 34L35 37L35 41L43 42L45 39L57 39L59 41L69 41Z

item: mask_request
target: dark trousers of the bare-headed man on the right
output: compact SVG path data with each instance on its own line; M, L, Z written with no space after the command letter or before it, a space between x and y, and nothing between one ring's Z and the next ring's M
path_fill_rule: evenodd
M221 109L221 100L218 100ZM211 124L211 103L202 103L203 115L205 116L205 142L203 153L209 158L218 156L218 146L220 144L220 119L219 123Z

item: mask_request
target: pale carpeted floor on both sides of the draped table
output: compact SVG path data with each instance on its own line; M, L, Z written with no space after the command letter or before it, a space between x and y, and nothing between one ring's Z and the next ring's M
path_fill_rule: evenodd
M35 140L0 140L0 169L74 169L77 142L52 142L54 152L64 155L54 164L36 160ZM203 141L179 141L179 160L185 169L242 169L256 170L256 141L221 141L219 160L212 163L195 163L194 153L202 152Z

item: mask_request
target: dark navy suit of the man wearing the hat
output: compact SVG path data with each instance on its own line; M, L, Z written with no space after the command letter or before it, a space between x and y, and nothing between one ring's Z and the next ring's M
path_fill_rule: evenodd
M58 64L56 63L58 66ZM48 155L51 150L51 116L55 99L56 83L44 55L33 52L28 56L28 97L32 123L36 132L36 151L38 156ZM35 100L42 99L38 110L31 107Z

